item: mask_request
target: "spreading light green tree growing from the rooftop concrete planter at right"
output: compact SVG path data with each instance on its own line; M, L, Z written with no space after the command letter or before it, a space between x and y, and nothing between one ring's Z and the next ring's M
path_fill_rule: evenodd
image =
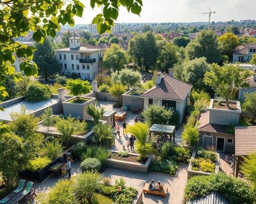
M229 107L228 100L235 92L239 88L249 87L247 79L250 75L248 70L242 70L238 64L219 66L213 63L211 70L205 73L204 82L223 96L226 99L227 107Z

